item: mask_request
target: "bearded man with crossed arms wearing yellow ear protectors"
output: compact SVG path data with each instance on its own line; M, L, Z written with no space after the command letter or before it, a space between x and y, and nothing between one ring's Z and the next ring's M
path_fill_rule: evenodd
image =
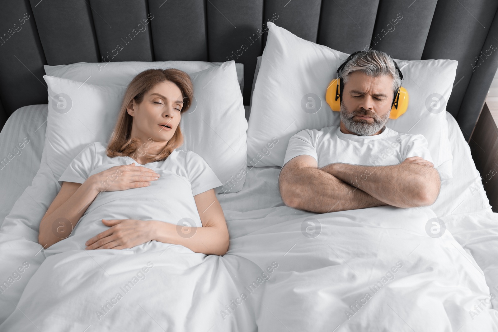
M432 205L441 179L427 140L385 126L408 102L397 64L370 49L353 53L337 72L327 102L341 112L340 127L291 137L278 179L285 205L316 213Z

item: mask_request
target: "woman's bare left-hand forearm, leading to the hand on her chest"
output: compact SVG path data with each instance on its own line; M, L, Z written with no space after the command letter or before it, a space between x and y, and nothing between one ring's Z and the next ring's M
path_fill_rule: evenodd
M38 243L48 248L68 237L99 191L92 178L87 179L74 194L40 222Z

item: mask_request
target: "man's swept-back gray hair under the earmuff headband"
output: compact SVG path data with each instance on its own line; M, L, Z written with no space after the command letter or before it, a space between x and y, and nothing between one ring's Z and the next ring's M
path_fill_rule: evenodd
M393 93L401 86L401 78L394 67L394 62L385 52L370 49L356 54L339 73L343 84L348 82L348 75L356 71L361 71L372 77L391 75Z

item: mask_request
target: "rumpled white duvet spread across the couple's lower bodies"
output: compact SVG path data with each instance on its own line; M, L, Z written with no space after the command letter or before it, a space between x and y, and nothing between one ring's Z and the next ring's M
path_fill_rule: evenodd
M226 214L223 257L156 241L47 257L0 331L498 331L491 302L475 309L484 273L428 235L430 209Z

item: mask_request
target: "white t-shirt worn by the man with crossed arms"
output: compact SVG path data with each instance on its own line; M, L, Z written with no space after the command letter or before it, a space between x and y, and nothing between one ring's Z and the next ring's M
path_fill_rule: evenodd
M398 133L385 126L372 136L345 134L334 126L301 130L290 138L284 165L303 154L315 158L318 168L331 163L389 166L413 156L433 162L423 135Z

